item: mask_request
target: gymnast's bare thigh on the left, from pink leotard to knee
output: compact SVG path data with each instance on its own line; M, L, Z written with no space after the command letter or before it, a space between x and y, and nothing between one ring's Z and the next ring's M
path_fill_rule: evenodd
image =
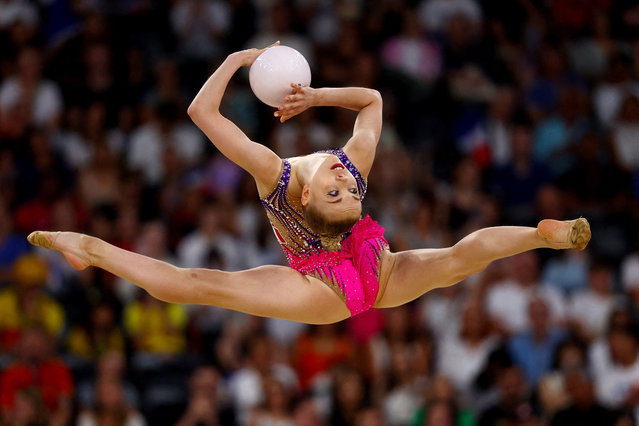
M286 266L261 266L238 272L198 270L209 283L211 303L252 315L309 324L350 317L342 299L322 281Z

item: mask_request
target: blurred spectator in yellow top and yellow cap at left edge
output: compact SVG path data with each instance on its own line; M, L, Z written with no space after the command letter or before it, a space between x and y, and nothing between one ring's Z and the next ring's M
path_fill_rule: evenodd
M22 332L30 326L42 327L58 337L64 327L64 311L47 295L47 265L39 257L26 254L13 267L13 284L0 291L0 348L13 349Z

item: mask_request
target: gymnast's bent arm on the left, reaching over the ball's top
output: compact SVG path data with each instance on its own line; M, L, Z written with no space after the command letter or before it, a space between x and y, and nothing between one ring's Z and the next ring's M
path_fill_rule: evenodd
M253 176L260 194L273 189L279 178L282 160L266 146L250 140L224 117L220 113L220 102L233 74L242 66L250 66L264 50L248 49L229 55L204 83L188 109L193 122L217 149Z

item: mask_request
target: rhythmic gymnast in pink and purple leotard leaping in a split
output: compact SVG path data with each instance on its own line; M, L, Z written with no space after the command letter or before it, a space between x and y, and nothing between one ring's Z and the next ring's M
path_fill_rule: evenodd
M215 146L249 172L290 267L238 272L184 269L74 232L36 231L29 241L59 250L76 269L97 266L173 303L215 305L263 317L324 324L371 307L407 303L482 271L493 260L536 248L583 250L585 219L542 220L537 228L499 226L453 247L393 253L384 228L361 217L366 177L382 128L382 98L365 88L303 88L275 112L284 122L313 106L358 111L343 149L280 159L220 114L233 74L264 49L233 53L204 84L189 115Z

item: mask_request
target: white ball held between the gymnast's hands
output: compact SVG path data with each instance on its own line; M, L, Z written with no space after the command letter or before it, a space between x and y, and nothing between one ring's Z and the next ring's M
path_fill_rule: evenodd
M288 46L273 46L257 57L249 71L251 89L257 98L276 107L286 95L294 93L291 83L307 87L311 84L311 69L306 58Z

